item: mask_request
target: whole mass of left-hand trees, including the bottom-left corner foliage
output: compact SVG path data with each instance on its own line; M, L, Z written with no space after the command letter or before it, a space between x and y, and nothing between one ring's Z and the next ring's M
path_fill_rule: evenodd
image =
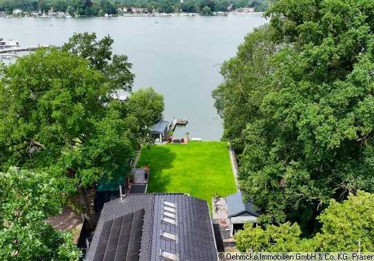
M78 192L93 225L89 191L129 174L149 126L162 118L163 95L132 91L132 65L112 55L112 43L74 34L61 48L0 64L1 259L77 260L71 235L45 218Z

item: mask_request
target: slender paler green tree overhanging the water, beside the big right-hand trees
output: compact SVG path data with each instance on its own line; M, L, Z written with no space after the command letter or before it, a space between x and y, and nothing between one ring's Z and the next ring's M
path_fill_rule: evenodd
M235 57L222 64L223 82L212 92L218 114L223 119L223 139L228 139L241 153L249 122L261 117L260 105L271 90L271 77L275 70L274 54L278 45L273 43L273 30L263 26L245 37Z

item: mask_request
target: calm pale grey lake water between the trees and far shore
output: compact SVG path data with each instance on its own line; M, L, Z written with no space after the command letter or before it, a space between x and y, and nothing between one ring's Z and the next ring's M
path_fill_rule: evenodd
M158 23L155 23L158 21ZM165 98L165 120L188 117L180 135L220 139L222 122L211 91L220 65L236 54L245 35L266 23L259 14L229 16L0 18L0 38L26 45L61 45L74 32L114 38L114 53L133 63L134 90L154 87Z

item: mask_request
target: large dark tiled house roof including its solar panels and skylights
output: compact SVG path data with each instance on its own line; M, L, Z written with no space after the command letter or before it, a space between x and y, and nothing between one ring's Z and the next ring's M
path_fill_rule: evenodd
M126 223L125 227L120 228L116 225L116 229L113 230L114 222L119 224L122 218L123 224L124 220L129 219L127 215L135 216L139 212L143 213L143 218L133 218L132 224L134 225L136 220L142 220L141 226L136 223L133 228ZM174 216L173 222L170 222L167 216ZM127 238L127 241L121 239L121 229L138 231L138 227L141 227L141 233L136 232L136 237ZM105 238L108 239L105 241ZM138 238L141 238L140 245L133 245L132 251L127 250L127 259L121 260L162 260L160 253L163 251L178 256L178 260L217 260L207 202L186 194L129 194L122 201L117 198L106 203L90 249L87 251L86 260L117 260L116 253L121 251L118 254L120 260L119 258L125 255L126 244L132 244L130 241L133 240L137 242ZM137 255L129 255L134 253L136 247Z

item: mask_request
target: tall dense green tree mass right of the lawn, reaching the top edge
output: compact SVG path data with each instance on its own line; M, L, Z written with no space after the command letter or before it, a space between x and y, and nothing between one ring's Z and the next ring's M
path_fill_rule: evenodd
M262 222L313 234L331 198L373 192L373 10L365 0L276 1L269 25L222 66L216 108Z

